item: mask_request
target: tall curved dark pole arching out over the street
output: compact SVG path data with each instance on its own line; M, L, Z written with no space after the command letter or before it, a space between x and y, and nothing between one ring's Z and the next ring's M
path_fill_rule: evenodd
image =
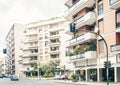
M104 37L101 36L100 34L94 32L94 31L89 31L89 30L81 30L80 31L85 31L86 33L92 33L92 34L95 34L97 36L100 36L102 38L102 40L104 41L105 43L105 46L106 46L106 62L107 62L107 66L106 66L106 72L107 72L107 85L109 85L109 66L108 66L108 45L107 45L107 42L105 41Z

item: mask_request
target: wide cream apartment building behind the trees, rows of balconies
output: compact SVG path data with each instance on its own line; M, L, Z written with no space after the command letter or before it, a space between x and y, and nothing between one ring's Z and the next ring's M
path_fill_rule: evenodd
M37 75L30 73L34 65L55 61L58 66L65 65L65 46L67 34L64 32L66 20L63 17L40 20L26 25L23 42L21 77Z

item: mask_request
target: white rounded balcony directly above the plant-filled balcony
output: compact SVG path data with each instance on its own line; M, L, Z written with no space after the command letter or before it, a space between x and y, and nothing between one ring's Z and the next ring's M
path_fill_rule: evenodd
M73 38L71 40L69 40L67 44L67 47L71 47L71 46L75 46L75 45L78 45L78 44L82 44L84 42L90 42L90 40L94 40L96 39L96 35L95 34L92 34L92 33L85 33L85 34L82 34L76 38Z

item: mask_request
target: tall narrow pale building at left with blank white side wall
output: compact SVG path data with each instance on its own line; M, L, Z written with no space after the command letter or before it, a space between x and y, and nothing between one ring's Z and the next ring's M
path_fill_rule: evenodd
M23 38L24 25L15 23L6 36L7 64L10 75L19 76L20 46Z

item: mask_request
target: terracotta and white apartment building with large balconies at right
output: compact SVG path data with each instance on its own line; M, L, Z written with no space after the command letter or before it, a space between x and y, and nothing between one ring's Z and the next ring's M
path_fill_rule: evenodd
M67 56L74 64L73 71L80 75L80 81L107 81L104 62L108 48L109 80L119 82L120 0L66 0L65 5L68 7L65 18L71 21L65 32L72 36L67 42Z

